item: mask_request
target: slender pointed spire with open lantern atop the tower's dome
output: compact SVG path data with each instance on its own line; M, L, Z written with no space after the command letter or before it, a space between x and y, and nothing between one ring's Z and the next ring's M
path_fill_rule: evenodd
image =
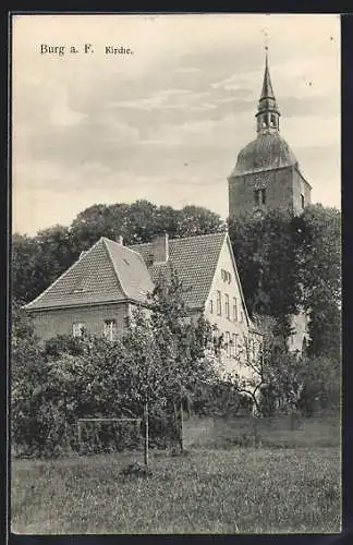
M273 87L270 78L270 73L268 68L267 46L265 47L265 50L266 50L266 61L265 61L264 83L256 113L258 134L264 134L267 132L278 132L279 118L281 114L276 102Z

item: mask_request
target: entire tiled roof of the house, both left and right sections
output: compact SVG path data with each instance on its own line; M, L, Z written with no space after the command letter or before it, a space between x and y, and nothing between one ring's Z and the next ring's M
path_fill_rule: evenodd
M188 308L205 305L214 280L224 232L172 239L169 261L149 265L153 243L123 246L101 238L37 299L28 310L104 302L144 302L159 275L176 271Z

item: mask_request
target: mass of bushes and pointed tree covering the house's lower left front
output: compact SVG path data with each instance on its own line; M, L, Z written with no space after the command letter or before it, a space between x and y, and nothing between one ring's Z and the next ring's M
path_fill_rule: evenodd
M135 310L122 339L59 336L27 352L31 360L25 360L12 391L17 452L52 457L76 449L77 419L142 417L146 401L151 445L175 440L173 402L199 377L210 376L211 366L203 350L207 325L184 319L182 287L174 274L171 278L171 283L157 282L149 310ZM14 331L25 328L31 342L32 329L23 325L22 313ZM105 435L97 426L95 434Z

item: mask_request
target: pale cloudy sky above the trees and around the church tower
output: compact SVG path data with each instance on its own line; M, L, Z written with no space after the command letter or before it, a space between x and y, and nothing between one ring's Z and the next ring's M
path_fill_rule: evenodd
M256 137L265 44L281 135L312 201L339 208L338 15L16 15L13 231L139 198L226 219L227 177Z

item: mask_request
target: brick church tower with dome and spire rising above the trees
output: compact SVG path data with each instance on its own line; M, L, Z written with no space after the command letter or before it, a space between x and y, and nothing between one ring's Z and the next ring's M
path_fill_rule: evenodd
M297 215L311 202L312 186L280 135L280 117L266 48L263 90L255 114L257 136L239 153L228 178L230 218L273 209Z

